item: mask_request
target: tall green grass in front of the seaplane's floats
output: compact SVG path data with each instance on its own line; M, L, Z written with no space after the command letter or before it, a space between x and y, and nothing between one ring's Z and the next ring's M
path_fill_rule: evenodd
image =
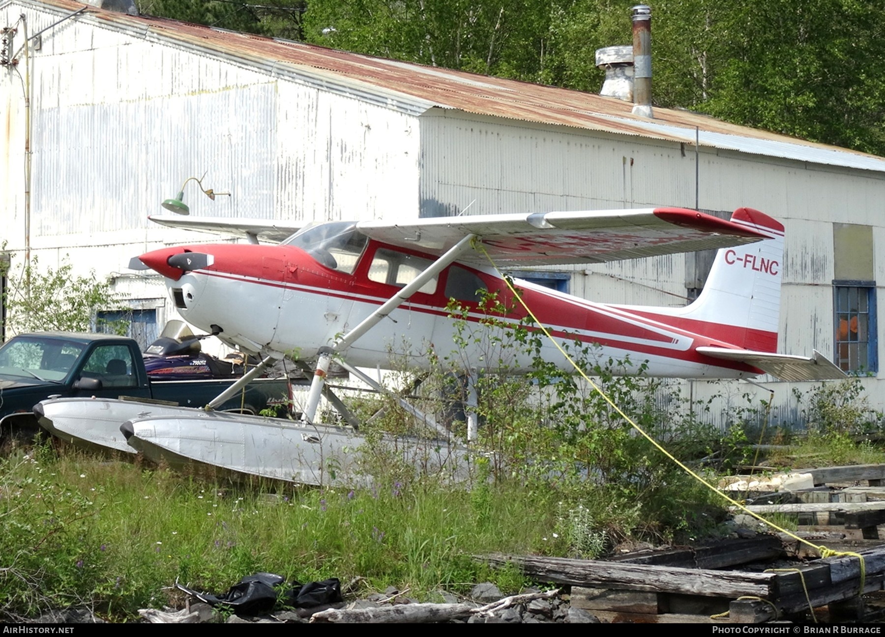
M219 485L36 447L0 462L0 610L14 618L84 603L131 617L173 601L175 579L220 592L257 571L360 577L418 596L489 578L518 588L514 573L470 555L543 551L555 517L524 495Z

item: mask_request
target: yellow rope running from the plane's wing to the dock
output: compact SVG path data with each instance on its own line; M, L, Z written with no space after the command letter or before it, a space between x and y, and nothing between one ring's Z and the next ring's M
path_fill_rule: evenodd
M629 423L631 427L633 427L634 431L639 433L644 439L648 440L654 447L656 447L658 449L658 451L660 453L666 455L666 457L669 458L676 466L678 466L681 470L685 471L692 478L695 478L699 483L701 483L702 485L707 487L710 491L712 491L712 493L716 493L718 496L720 496L720 498L727 501L732 506L736 507L737 509L742 510L744 513L746 513L747 515L749 515L751 517L755 517L756 519L759 520L759 522L761 522L763 524L767 524L768 526L773 528L775 531L784 533L785 535L789 536L793 540L797 540L797 542L801 542L801 543L813 548L814 550L818 551L821 558L832 557L835 555L846 555L846 556L857 557L858 560L860 560L860 587L859 587L858 594L864 593L864 585L865 585L865 579L866 579L866 564L864 563L864 556L863 555L859 555L858 553L853 553L853 552L834 551L829 548L814 544L808 540L805 540L804 538L800 538L796 533L789 532L788 530L781 528L777 524L774 524L770 520L766 520L765 517L762 517L762 516L758 515L758 513L754 513L753 511L750 511L750 509L747 509L745 506L743 506L743 504L741 502L738 502L738 501L734 500L733 498L730 498L726 493L722 493L715 486L712 486L712 484L707 482L704 478L697 475L693 470L689 469L689 467L687 467L685 464L680 462L680 460L678 458L676 458L675 456L673 456L673 454L670 454L670 452L667 451L666 448L664 448L660 443L658 443L658 441L656 439L653 439L648 433L646 433L643 430L642 427L640 427L637 423L635 423L635 421L632 418L630 418L630 416L627 416L627 414L625 414L623 412L623 410L621 410L621 408L618 407L618 405L616 405L614 403L614 401L611 398L609 398L609 396L605 392L603 392L602 388L599 385L596 385L596 383L593 382L593 380L584 372L584 370L578 366L578 364L573 360L573 358L569 355L569 353L567 353L566 350L558 344L557 340L555 338L553 338L553 336L550 334L550 331L547 330L547 328L543 325L543 323L538 320L538 317L535 316L535 313L532 312L531 308L529 308L527 306L526 301L522 298L522 295L519 294L519 292L516 291L516 289L513 287L513 284L511 283L510 278L508 276L505 276L504 273L502 273L501 270L498 269L498 267L495 263L495 260L493 260L491 258L491 255L489 254L489 252L486 252L485 246L482 245L481 243L478 243L477 245L480 248L480 250L482 251L482 253L486 255L486 258L489 260L489 263L492 264L492 267L496 269L498 275L500 275L501 278L504 279L504 283L507 284L507 288L511 291L513 297L515 299L519 300L519 305L521 305L523 307L523 309L526 310L527 314L531 317L532 321L534 321L535 325L538 326L538 329L543 332L544 336L546 336L548 339L550 339L550 342L553 344L553 346L555 346L559 350L559 353L561 353L566 358L566 361L568 361L569 364L574 368L574 370L585 381L587 381L587 383L594 389L594 391L596 391L603 398L603 400L605 400L605 402L607 402L612 407L612 409L614 409L624 420L626 420L627 423Z

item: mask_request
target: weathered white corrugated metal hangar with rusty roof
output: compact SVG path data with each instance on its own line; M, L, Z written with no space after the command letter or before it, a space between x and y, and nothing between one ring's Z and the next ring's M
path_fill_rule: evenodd
M885 159L685 111L643 117L617 97L68 0L4 2L0 29L0 210L12 267L67 255L82 272L113 276L139 321L162 324L174 307L157 276L127 270L129 258L210 240L147 220L190 176L231 193L187 191L192 214L261 220L639 206L725 216L750 206L786 227L779 350L818 349L865 372L870 390L882 377ZM703 285L704 258L535 278L591 300L680 306ZM762 382L782 422L795 416L793 389L810 388ZM746 391L756 389L690 389ZM869 393L885 409L885 392Z

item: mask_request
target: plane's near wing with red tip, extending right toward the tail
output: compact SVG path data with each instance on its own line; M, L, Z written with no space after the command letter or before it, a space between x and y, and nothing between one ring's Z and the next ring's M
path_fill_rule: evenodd
M685 208L483 214L407 223L360 221L357 229L378 241L431 254L442 254L462 237L474 234L502 267L637 259L770 238ZM458 260L488 265L481 251L466 252Z

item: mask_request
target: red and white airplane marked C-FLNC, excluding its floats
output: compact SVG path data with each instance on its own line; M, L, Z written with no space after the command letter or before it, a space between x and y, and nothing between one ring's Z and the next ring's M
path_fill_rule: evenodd
M453 348L455 299L481 322L481 291L494 293L514 324L526 313L497 268L600 263L718 248L700 296L687 307L593 303L516 280L554 338L594 344L624 373L656 377L782 380L843 377L820 353L776 353L784 229L750 208L730 221L684 208L495 214L388 221L329 221L299 228L277 221L150 217L158 223L248 237L249 244L163 248L131 267L152 268L179 314L266 363L319 354L304 421L312 422L333 356L345 369L385 367L390 348ZM273 244L259 244L258 239ZM142 265L143 264L143 265ZM494 264L494 267L493 267ZM571 371L552 343L543 357ZM480 352L465 358L480 361ZM531 361L516 361L514 370ZM256 372L258 373L258 372ZM248 378L243 383L248 382ZM238 388L232 391L237 391ZM221 397L219 397L220 399ZM225 396L227 398L227 395ZM215 401L213 401L215 402ZM212 403L210 403L212 407Z

